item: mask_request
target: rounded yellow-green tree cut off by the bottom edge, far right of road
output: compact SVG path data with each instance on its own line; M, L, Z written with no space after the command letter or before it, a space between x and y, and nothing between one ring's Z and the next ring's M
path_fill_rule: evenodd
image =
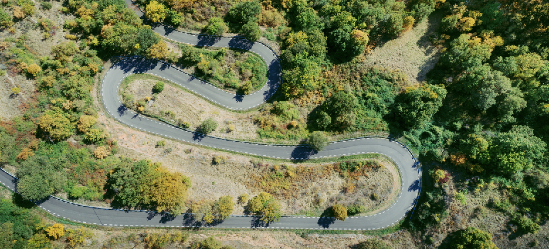
M456 232L452 247L457 249L497 249L492 235L485 231L468 227Z

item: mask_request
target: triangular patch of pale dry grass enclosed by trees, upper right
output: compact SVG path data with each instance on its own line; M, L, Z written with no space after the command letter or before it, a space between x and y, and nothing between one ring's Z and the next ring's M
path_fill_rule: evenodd
M404 72L411 81L421 82L439 59L439 49L429 41L442 16L435 12L412 30L403 33L366 55L368 66L386 67Z

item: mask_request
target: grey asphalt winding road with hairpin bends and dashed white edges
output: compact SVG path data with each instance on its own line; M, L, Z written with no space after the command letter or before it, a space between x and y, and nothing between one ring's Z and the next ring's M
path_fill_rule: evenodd
M126 4L132 5L129 0ZM135 9L143 17L143 13ZM126 109L119 98L119 86L122 80L133 73L150 73L201 95L202 97L232 110L250 109L264 103L276 93L281 82L281 65L278 56L265 44L250 42L239 37L210 37L192 35L174 31L169 27L157 25L153 30L165 38L176 42L198 46L231 47L247 49L259 54L268 66L268 80L264 87L250 95L235 95L215 88L208 82L184 73L158 60L128 56L114 64L103 78L101 98L107 112L121 123L133 128L158 134L183 142L207 146L210 148L240 152L248 155L271 157L276 159L318 159L359 154L382 154L392 159L400 170L401 187L396 201L389 208L372 216L349 217L344 222L333 218L283 216L278 222L264 224L257 216L231 216L223 222L204 225L197 223L192 214L170 216L166 213L148 211L115 210L83 206L50 196L36 202L43 210L53 216L72 222L103 225L111 227L212 227L212 228L272 228L272 229L337 229L372 230L383 229L399 222L412 211L421 188L421 169L411 151L395 140L380 137L363 137L330 143L323 151L312 151L305 145L271 145L240 142L210 137L200 133L186 131L170 124L152 120ZM17 179L0 171L0 183L16 191Z

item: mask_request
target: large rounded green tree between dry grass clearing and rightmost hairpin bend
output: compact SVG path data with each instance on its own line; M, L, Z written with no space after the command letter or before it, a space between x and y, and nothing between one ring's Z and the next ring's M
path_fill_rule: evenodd
M408 128L425 127L442 106L446 93L442 86L423 84L419 87L408 87L395 99L395 120Z

